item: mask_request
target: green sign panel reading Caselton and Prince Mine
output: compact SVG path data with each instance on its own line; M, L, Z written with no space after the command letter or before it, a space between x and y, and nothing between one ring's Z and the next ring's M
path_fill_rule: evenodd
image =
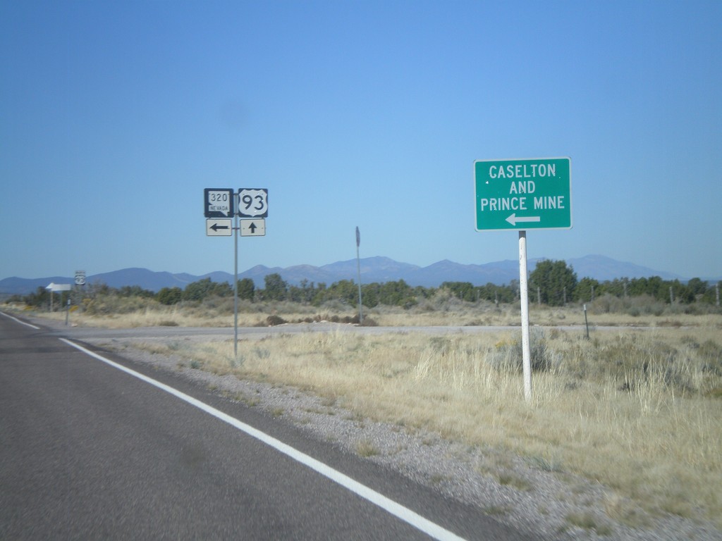
M477 231L570 229L570 158L474 162Z

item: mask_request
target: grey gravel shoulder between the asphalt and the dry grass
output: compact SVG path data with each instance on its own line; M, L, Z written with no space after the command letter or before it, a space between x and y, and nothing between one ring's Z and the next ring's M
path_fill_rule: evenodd
M48 320L38 323L58 331L68 328ZM67 334L72 338L74 333ZM167 339L178 340L177 332ZM207 340L208 336L186 339ZM147 341L144 338L116 335L85 336L82 340L155 369L180 374L214 389L227 400L264 410L278 422L293 423L344 452L392 468L445 496L477 506L480 512L500 522L544 539L722 541L722 532L713 524L678 516L649 516L599 483L555 471L554 465L529 462L496 449L471 448L445 441L438 434L409 431L392 423L369 421L338 403L292 387L274 387L192 369L180 357L138 348L137 343ZM152 341L162 340L156 336ZM627 525L630 521L635 527Z

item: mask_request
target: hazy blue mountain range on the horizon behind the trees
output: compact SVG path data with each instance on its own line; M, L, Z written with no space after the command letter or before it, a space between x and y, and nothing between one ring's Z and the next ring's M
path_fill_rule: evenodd
M534 270L536 263L541 259L529 260L529 271ZM614 280L614 278L646 278L660 276L664 280L686 278L663 271L654 271L651 268L625 263L603 255L586 255L583 258L566 260L571 265L578 278L594 278L599 281ZM295 265L287 268L266 267L256 265L248 271L238 274L238 279L251 278L256 287L264 287L265 276L279 273L282 278L292 285L298 285L303 280L313 283L324 282L329 286L339 280L357 280L357 263L355 259L337 261L329 265L315 267L313 265ZM110 287L141 286L143 289L159 291L164 287L178 286L183 289L188 283L211 278L214 282L233 283L233 275L225 272L214 272L203 276L192 274L168 272L154 272L145 268L125 268L121 271L95 274L87 276L87 283L105 283ZM419 267L410 263L399 263L393 259L375 257L361 260L361 282L388 282L403 279L411 286L436 287L445 281L471 282L476 286L487 283L499 285L507 284L519 278L519 263L517 260L497 261L484 265L463 265L453 261L443 260L427 267ZM0 295L29 294L38 287L48 286L49 283L74 283L74 278L67 276L48 276L47 278L4 278L0 280Z

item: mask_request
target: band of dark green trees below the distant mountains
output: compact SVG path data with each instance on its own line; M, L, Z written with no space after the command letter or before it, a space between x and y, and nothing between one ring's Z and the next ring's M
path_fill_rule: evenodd
M367 308L380 304L411 308L423 299L430 299L439 290L446 290L461 301L495 303L516 302L519 299L519 283L516 280L499 286L487 283L485 286L474 286L471 282L446 281L438 288L409 286L404 280L384 283L364 283L361 286L362 303ZM180 302L200 302L209 297L233 296L230 283L213 282L210 278L188 283L181 289L179 286L164 287L154 292L140 286L123 286L115 289L105 284L92 284L81 291L65 291L61 295L59 306L63 306L69 296L116 295L121 297L154 298L166 305ZM667 304L691 304L702 302L719 304L719 284L708 283L700 278L692 278L687 283L679 280L663 280L659 276L649 278L615 278L612 281L598 281L594 278L578 280L570 265L563 260L541 260L529 274L529 302L562 306L572 302L592 302L601 296L627 298L649 296L658 302ZM358 286L353 280L341 280L331 285L302 280L298 285L284 281L279 273L271 273L264 278L264 288L256 288L251 278L238 281L238 298L249 302L287 301L320 306L324 302L338 301L357 307ZM50 292L43 287L26 296L14 296L9 299L25 302L34 307L50 304ZM74 302L74 304L78 304Z

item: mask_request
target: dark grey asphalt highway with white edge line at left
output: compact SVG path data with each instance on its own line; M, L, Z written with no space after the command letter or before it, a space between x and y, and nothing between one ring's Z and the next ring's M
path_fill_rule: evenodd
M529 539L173 374L100 356L0 315L0 539Z

